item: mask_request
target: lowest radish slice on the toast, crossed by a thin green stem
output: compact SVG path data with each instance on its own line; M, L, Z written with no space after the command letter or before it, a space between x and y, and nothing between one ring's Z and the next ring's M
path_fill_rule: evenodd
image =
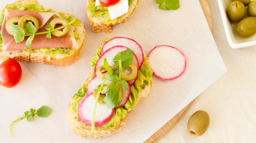
M92 126L92 114L94 110L95 98L93 94L86 95L79 102L77 112L79 119ZM115 108L108 108L107 104L97 104L96 114L95 114L95 127L103 126L110 121L115 113Z

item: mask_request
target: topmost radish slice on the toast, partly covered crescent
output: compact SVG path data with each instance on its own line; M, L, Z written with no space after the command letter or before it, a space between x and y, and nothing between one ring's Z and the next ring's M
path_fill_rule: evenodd
M139 68L141 67L143 60L144 60L143 50L142 50L141 46L139 45L139 43L137 43L136 41L134 41L133 39L130 39L130 38L115 37L113 39L110 39L103 45L103 47L101 49L101 54L103 54L108 49L110 49L111 47L116 46L116 45L123 45L123 46L130 48L138 58Z

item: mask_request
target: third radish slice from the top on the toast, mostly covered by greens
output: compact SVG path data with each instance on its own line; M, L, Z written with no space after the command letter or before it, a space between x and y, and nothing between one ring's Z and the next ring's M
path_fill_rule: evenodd
M101 85L102 82L103 82L103 80L101 80L97 76L94 76L92 78L92 80L88 83L88 86L87 86L87 89L86 89L87 94L93 93L95 87L97 87L98 85ZM106 80L105 85L108 85L109 83L110 83L110 81ZM124 89L124 98L121 101L118 102L118 106L116 108L120 108L120 107L124 106L126 104L126 102L128 101L129 97L130 97L130 84L129 84L129 82L127 82L127 83L128 83L128 86L129 86L129 90L123 88Z

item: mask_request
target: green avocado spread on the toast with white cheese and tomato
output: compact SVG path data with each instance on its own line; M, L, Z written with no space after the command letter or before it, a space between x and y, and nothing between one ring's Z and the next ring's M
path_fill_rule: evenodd
M132 0L128 0L128 4L132 4ZM116 24L119 18L115 18L114 20L110 20L110 15L108 13L108 8L104 6L95 6L95 0L88 0L87 8L90 10L91 17L104 17L106 24Z

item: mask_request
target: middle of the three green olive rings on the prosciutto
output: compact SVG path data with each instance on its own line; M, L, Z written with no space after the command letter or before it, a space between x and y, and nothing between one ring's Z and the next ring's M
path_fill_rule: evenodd
M27 30L25 30L25 25L27 24L27 22L32 22L32 24L35 26L36 31L38 31L39 28L39 22L38 20L30 15L24 15L20 18L20 22L18 23L18 26L20 26L26 34L29 34L29 32L27 32Z

